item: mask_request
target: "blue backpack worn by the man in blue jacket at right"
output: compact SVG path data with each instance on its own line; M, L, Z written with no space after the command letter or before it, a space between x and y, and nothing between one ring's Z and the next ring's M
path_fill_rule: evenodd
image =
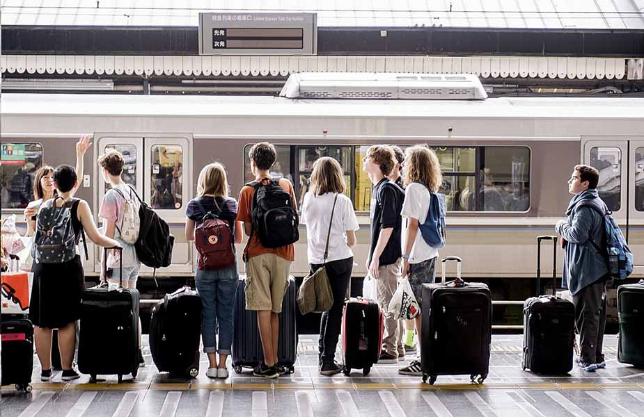
M613 279L626 279L633 272L633 252L626 244L626 239L622 230L615 223L612 211L605 207L599 207L597 203L592 200L584 200L579 202L578 206L590 207L597 211L599 215L604 218L604 250L597 245L592 239L590 243L595 246L595 249L606 258L608 266L608 275Z

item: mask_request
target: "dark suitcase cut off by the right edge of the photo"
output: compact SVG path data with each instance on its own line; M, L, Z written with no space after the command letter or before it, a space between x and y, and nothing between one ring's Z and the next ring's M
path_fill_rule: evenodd
M617 288L620 338L617 359L644 368L644 280Z

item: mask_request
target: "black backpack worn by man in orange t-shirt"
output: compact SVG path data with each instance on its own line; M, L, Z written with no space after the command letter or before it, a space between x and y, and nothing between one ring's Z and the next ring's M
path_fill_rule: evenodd
M279 185L278 178L247 183L255 188L251 205L253 233L256 233L263 247L282 247L299 240L299 216L293 199Z

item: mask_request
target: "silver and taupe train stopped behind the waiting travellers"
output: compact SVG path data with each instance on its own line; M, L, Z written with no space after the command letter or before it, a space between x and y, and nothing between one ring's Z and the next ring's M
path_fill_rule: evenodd
M632 277L644 278L644 98L462 99L455 93L442 99L392 99L372 93L378 83L370 83L370 95L334 98L345 96L337 94L337 85L335 95L322 91L329 84L317 85L319 97L3 94L2 217L17 214L24 227L29 198L14 189L17 179L33 177L43 163L73 165L74 143L91 134L93 149L86 155L77 197L96 214L106 191L96 158L110 148L122 152L125 181L175 236L172 264L155 277L185 279L194 274L196 256L184 236L184 209L196 193L201 167L223 163L230 195L237 197L253 179L249 148L269 141L278 152L271 173L292 181L298 204L315 159L332 156L340 162L359 218L353 275L361 279L371 194L361 159L372 144L404 149L425 143L437 152L444 175L447 244L441 256L462 257L463 278L492 283L496 299L518 300L534 291L536 236L554 234L554 225L564 218L571 197L567 180L577 163L599 169L599 195L634 252ZM22 161L6 155L15 147L24 150ZM237 254L244 244L245 238ZM96 276L99 251L90 245L88 252L86 274ZM303 225L295 258L291 274L304 277L309 268ZM560 277L563 250L557 258ZM542 270L549 270L549 257L543 262ZM238 267L243 273L241 256ZM151 274L141 269L143 277Z

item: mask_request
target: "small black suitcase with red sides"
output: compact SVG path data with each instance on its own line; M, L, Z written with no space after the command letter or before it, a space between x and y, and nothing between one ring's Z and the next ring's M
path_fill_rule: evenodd
M345 375L350 375L352 369L362 369L365 376L370 373L373 364L378 362L383 330L384 318L377 303L362 297L345 302L342 312Z

